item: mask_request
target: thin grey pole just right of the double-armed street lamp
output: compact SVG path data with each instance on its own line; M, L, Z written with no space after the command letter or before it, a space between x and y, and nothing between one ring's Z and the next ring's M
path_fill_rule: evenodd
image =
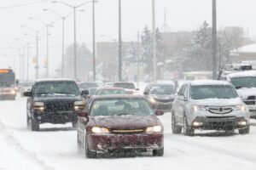
M95 42L95 0L92 0L92 55L93 81L96 81L96 42Z

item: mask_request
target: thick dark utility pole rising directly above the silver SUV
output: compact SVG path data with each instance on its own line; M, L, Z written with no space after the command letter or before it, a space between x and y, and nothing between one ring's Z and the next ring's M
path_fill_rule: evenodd
M212 0L212 79L217 79L217 15L216 0Z

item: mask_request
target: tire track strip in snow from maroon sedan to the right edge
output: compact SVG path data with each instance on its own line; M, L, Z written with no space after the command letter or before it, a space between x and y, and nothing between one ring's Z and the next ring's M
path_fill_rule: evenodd
M172 135L167 135L165 134L165 138L170 140L171 142L176 142L178 144L185 144L185 145L189 145L189 147L192 148L197 148L200 150L209 150L212 152L216 152L218 154L225 154L227 156L233 156L236 158L241 158L245 161L251 161L253 163L256 162L256 155L250 154L250 153L245 153L245 152L241 152L239 150L231 150L231 149L227 149L224 147L216 147L210 144L206 144L206 143L202 143L200 141L200 139L198 139L196 142L192 141L192 140L187 140L189 138L193 138L193 137L183 137L183 139L179 139L179 138L173 138ZM236 149L236 148L234 148Z

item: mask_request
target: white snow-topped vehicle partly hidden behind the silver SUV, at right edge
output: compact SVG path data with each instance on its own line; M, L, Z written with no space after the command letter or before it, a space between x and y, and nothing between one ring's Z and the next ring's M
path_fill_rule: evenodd
M231 73L227 80L235 86L237 93L248 106L251 118L256 119L256 71Z

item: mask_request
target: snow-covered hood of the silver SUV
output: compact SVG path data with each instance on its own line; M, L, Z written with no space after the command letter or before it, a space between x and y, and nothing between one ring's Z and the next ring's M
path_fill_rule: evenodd
M236 99L197 99L193 100L193 105L211 105L211 106L226 106L226 105L241 105L240 98Z

